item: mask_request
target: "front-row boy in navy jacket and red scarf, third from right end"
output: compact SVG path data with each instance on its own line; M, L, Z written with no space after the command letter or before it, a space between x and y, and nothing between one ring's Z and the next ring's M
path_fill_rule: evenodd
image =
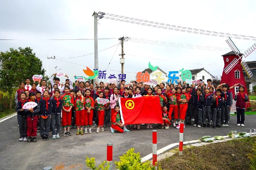
M216 94L213 96L213 114L212 114L212 128L220 126L221 107L224 104L224 98L221 97L221 90L217 89Z

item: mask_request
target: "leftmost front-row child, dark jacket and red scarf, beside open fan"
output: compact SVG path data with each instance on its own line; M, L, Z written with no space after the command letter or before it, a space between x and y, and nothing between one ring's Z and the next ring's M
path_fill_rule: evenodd
M25 84L24 84L24 86L25 86ZM24 106L24 104L26 102L28 102L26 100L26 93L21 92L19 98L20 98L20 101L18 101L15 106L15 110L18 115L18 125L19 125L19 130L20 130L19 141L27 141L27 117L26 117L26 113L24 111L25 109L22 108Z

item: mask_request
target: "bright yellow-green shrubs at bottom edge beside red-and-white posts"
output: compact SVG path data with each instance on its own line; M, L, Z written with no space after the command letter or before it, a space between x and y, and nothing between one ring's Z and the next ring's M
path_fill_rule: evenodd
M95 158L89 159L86 157L86 166L93 170L108 170L109 165L105 166L106 161L100 163L98 167L95 166ZM128 150L123 156L120 156L120 161L115 161L116 169L119 170L155 170L155 166L151 165L150 161L141 163L140 153L134 153L134 148ZM161 170L161 167L158 167Z

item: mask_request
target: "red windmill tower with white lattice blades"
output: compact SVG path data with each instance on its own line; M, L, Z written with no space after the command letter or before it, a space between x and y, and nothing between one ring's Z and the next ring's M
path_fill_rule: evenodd
M244 86L244 93L248 94L244 80L243 69L249 78L252 77L252 72L247 64L242 61L242 58L247 57L252 53L253 50L255 50L256 42L249 49L247 49L244 54L240 53L240 51L230 38L228 38L226 42L233 51L222 55L224 60L224 70L222 72L220 83L227 83L229 86L239 83ZM239 92L238 86L234 89L230 89L230 91L233 93L234 99L235 94Z

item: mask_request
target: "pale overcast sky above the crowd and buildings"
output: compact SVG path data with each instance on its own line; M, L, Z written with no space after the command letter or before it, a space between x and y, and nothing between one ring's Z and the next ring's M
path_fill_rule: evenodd
M0 1L0 39L18 39L1 41L0 51L9 48L30 47L43 61L47 70L47 56L58 60L48 60L49 75L56 72L54 67L68 74L70 78L84 76L82 69L86 65L94 68L93 40L46 41L44 39L93 39L94 25L92 14L101 11L120 16L144 19L175 26L184 26L222 33L256 36L254 18L255 1ZM98 21L98 38L116 38L99 40L99 50L116 45L118 38L132 37L155 41L166 41L197 46L219 47L220 51L173 46L160 46L148 43L127 41L124 43L124 73L126 81L134 80L138 71L148 68L150 61L168 71L203 68L214 76L221 76L224 62L221 55L231 51L225 42L226 37L215 37L195 33L173 31L150 26L102 18ZM232 39L243 53L255 41ZM117 49L117 51L116 51ZM116 51L116 53L115 53ZM115 55L114 55L115 53ZM109 74L121 73L121 46L99 52L99 70ZM128 55L129 54L129 55ZM113 56L114 55L114 56ZM136 56L133 56L136 55ZM108 66L111 58L113 59ZM251 54L245 61L255 61ZM149 58L145 58L149 57ZM62 58L62 59L61 59ZM154 59L152 59L154 58ZM168 60L168 61L161 61ZM183 63L180 63L183 62ZM116 71L112 71L116 70ZM47 71L45 72L47 74ZM107 81L107 77L105 82ZM74 78L73 78L74 79ZM64 78L61 78L61 81Z

